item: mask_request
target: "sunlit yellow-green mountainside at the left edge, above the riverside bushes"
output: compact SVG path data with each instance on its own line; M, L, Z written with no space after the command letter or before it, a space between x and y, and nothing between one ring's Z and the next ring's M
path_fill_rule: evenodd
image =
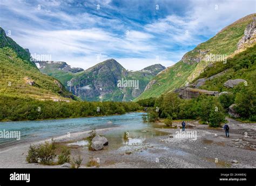
M55 78L41 73L30 53L23 49L0 27L0 95L39 100L75 98Z

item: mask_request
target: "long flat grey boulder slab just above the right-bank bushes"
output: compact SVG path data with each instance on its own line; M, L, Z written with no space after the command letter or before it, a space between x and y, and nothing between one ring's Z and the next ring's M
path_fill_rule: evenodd
M191 88L191 87L183 87L178 88L174 92L179 93L179 97L181 99L191 99L191 98L197 98L200 94L206 94L206 95L218 95L218 91L207 91L205 89L197 89L197 88Z

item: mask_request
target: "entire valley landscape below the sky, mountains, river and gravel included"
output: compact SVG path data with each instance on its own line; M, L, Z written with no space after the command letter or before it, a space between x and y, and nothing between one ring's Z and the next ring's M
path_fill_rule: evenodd
M137 71L31 60L0 27L0 132L21 134L1 139L0 167L256 168L255 16Z

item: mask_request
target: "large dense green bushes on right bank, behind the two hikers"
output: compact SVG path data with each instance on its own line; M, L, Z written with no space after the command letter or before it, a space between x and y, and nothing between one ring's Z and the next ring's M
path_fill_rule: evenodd
M148 110L150 110L147 114L148 121L154 122L158 118L164 118L167 126L171 125L170 119L200 119L204 123L209 123L211 127L219 127L225 121L225 110L218 98L206 95L184 100L176 93L170 92L157 98L154 108Z

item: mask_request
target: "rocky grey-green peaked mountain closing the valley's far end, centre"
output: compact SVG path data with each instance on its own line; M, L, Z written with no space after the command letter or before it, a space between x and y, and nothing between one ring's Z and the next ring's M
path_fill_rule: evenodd
M164 69L156 64L140 71L128 71L116 60L109 59L75 74L71 91L87 101L131 101Z

